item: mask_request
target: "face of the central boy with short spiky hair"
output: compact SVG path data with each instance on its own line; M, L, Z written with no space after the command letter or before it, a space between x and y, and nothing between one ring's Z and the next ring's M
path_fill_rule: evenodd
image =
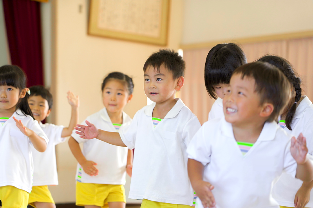
M167 101L175 100L177 88L177 80L173 79L172 73L164 67L160 66L158 72L153 66L147 67L144 72L144 92L150 100L156 103L164 103Z

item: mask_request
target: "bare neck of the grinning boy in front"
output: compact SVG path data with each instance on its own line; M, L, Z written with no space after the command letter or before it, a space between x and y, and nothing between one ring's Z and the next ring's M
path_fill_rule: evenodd
M264 123L265 121L242 126L232 125L236 141L255 143L261 134Z

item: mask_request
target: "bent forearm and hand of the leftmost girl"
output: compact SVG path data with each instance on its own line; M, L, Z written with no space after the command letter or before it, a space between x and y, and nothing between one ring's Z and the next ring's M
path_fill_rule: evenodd
M33 130L24 126L21 120L17 120L14 116L13 119L19 130L21 130L24 135L28 136L29 140L32 142L37 151L39 152L46 151L47 142L42 137L38 136Z

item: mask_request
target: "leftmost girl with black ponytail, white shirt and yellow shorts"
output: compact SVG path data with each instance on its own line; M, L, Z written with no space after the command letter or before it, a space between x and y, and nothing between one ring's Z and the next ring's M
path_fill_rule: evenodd
M3 207L27 207L33 181L31 145L39 152L48 138L27 102L26 75L18 66L0 67L0 200Z

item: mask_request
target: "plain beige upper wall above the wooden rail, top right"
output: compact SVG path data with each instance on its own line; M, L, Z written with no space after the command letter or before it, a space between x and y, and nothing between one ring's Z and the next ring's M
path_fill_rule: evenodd
M186 0L182 44L312 30L312 0Z

